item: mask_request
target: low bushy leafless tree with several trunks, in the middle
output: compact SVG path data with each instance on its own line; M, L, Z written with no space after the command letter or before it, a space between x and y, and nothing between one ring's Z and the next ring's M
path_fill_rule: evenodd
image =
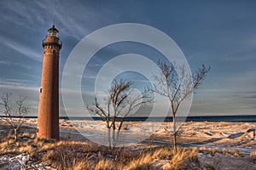
M93 105L87 105L87 110L93 114L101 116L107 123L110 129L120 130L126 116L131 115L131 111L139 105L151 102L149 91L144 90L142 94L133 94L131 89L131 82L120 79L119 82L114 79L108 90L108 97L104 103L100 104L95 98ZM116 119L120 118L119 127L116 127Z

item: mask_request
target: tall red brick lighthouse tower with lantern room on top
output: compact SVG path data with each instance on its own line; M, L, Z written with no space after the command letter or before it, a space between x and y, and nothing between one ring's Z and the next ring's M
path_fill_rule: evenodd
M44 59L38 108L39 139L60 139L59 57L62 43L53 25L43 40Z

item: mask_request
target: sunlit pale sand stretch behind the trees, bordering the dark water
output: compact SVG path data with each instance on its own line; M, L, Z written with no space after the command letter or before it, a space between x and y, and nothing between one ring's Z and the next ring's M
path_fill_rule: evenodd
M37 119L26 119L26 125L36 127ZM74 140L86 140L79 134L83 134L86 138L94 133L103 136L107 132L106 124L102 121L61 119L60 127L63 139L73 136ZM256 150L255 129L256 123L254 122L184 122L177 131L177 142L181 145L209 145ZM172 122L124 122L120 132L132 139L171 142Z

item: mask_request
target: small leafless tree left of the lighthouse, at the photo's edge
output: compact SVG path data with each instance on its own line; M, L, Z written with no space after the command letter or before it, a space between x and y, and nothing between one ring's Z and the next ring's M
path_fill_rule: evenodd
M10 99L11 94L3 93L0 97L0 105L2 110L0 113L3 115L3 121L8 122L12 127L15 134L15 140L18 139L18 134L21 125L25 122L25 116L27 115L28 108L24 106L26 97L19 97L14 102Z

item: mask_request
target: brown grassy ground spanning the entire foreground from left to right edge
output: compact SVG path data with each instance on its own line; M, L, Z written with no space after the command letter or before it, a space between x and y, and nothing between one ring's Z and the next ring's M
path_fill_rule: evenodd
M1 124L0 126L4 126ZM252 169L255 165L255 152L243 156L240 151L223 148L184 149L157 144L139 144L137 147L109 148L84 141L77 135L62 134L62 139L48 141L36 139L36 128L22 127L18 141L9 132L9 128L0 133L0 157L14 157L24 153L29 162L49 165L56 169ZM33 135L31 135L33 134ZM67 141L69 140L69 141ZM75 142L74 140L77 140ZM158 148L160 147L160 148ZM236 158L235 158L236 157ZM30 163L27 163L30 164Z

